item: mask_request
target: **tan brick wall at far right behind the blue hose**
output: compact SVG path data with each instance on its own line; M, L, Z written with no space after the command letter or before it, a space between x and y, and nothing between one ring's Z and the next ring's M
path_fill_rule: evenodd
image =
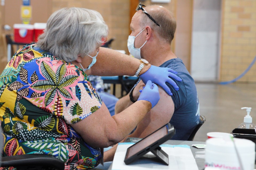
M256 56L255 11L255 0L223 0L221 81L238 77ZM256 82L256 65L238 82Z

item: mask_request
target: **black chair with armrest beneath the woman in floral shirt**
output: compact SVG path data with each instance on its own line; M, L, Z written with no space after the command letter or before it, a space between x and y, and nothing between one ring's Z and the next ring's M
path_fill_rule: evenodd
M3 147L3 135L0 128L0 144ZM54 169L64 170L65 163L51 155L45 154L25 154L14 156L1 156L1 167L15 167L17 170L41 170L41 169Z

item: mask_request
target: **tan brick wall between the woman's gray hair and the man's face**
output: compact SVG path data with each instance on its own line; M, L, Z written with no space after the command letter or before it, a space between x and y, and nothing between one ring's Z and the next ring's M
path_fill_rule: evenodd
M126 50L129 36L129 7L127 0L53 0L52 12L63 7L82 7L93 9L101 13L109 27L108 39L115 37L112 49Z

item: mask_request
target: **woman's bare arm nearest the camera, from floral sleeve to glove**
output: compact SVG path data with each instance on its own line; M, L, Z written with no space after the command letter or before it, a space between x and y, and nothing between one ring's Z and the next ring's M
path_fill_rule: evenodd
M103 103L102 107L86 119L72 124L85 142L93 147L109 147L124 139L150 111L149 101L139 100L123 112L110 116ZM85 130L90 127L90 130Z

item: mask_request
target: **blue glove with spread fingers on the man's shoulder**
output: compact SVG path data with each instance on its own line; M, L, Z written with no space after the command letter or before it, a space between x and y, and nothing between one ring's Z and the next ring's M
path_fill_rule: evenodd
M172 96L173 94L170 88L165 83L169 83L171 84L171 86L174 87L175 90L179 90L177 84L171 79L174 78L177 81L181 82L181 78L179 78L176 74L177 72L173 69L151 65L151 67L139 77L141 78L143 83L146 83L148 80L151 80L152 83L158 84L163 88L163 90L166 91L167 94Z

